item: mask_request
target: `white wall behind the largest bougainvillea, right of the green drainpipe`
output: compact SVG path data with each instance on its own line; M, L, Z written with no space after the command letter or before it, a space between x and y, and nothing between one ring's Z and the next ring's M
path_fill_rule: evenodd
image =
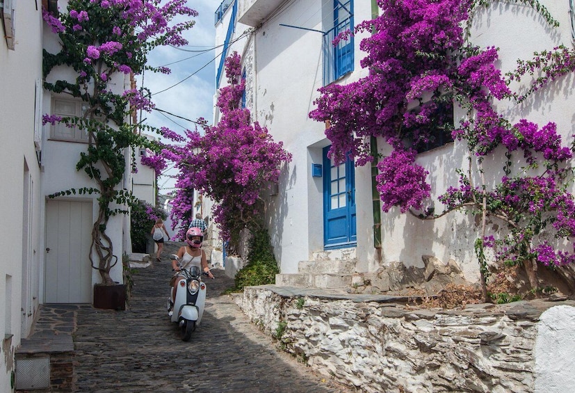
M569 1L548 0L541 3L560 23L558 29L551 29L531 8L502 2L489 8L480 8L473 15L471 42L480 47L499 47L502 74L514 70L517 59L530 60L535 51L551 50L560 44L572 46ZM574 75L569 74L535 93L524 104L502 101L498 107L511 122L526 118L540 127L550 121L556 122L563 143L569 145L575 131L574 82ZM517 83L512 88L517 88ZM387 153L386 147L382 147L382 152ZM503 150L499 152L503 158ZM430 171L436 213L443 210L437 195L444 193L448 186L457 184L454 169L467 168L465 154L464 146L456 141L420 154L417 159L418 163ZM521 153L515 153L515 157L520 156ZM485 160L487 179L501 179L502 162L497 158ZM479 279L473 241L480 228L472 218L452 213L434 222L421 222L412 216L398 216L397 209L382 217L384 264L398 261L406 266L421 267L421 255L435 255L444 263L448 259L455 259L468 280Z

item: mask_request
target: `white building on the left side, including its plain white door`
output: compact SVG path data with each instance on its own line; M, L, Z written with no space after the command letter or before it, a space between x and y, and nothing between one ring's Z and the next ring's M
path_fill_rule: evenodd
M42 303L92 303L92 288L101 282L90 266L92 224L97 217L97 195L70 195L50 199L67 189L95 187L76 171L87 141L74 128L42 126L42 115L77 115L82 103L52 95L42 87L42 48L60 50L57 36L42 20L41 7L55 1L5 1L0 40L0 212L6 223L0 236L0 391L14 389L15 351L29 336ZM65 9L65 1L60 2ZM64 68L48 79L70 77ZM129 89L130 79L115 81L118 91ZM155 174L142 166L132 179L129 160L120 186L154 203ZM111 277L122 282L122 254L131 252L129 216L113 216L106 230L120 263Z

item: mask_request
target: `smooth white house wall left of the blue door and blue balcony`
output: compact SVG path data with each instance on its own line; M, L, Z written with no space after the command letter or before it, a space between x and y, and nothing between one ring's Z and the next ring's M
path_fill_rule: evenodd
M238 26L241 27L236 28L236 34L244 31L242 20L254 24L243 15L252 3L254 1L239 2ZM269 10L261 3L279 5L275 1L256 3L256 8L266 12ZM284 148L293 155L292 162L283 168L279 193L269 198L266 211L282 273L295 273L298 261L307 260L312 252L323 250L323 186L321 179L311 177L310 168L311 163L322 162L322 148L329 145L329 141L323 134L324 125L310 120L307 115L314 108L312 102L318 96L317 89L323 85L322 34L280 24L321 31L325 15L332 17L322 9L319 0L282 3L261 25L258 22L257 26L252 26L250 40L234 44L229 51L243 54L246 102L252 120L267 127L274 141L282 141ZM356 5L356 21L368 19L369 15L369 4ZM218 38L225 37L227 23L216 26L216 45L221 43ZM359 50L358 38L355 45ZM359 70L357 56L355 62L355 69ZM357 72L346 81L357 79L360 74ZM369 177L367 180L369 182ZM361 184L361 177L357 177L356 182L359 182L356 183L357 198L370 198L371 201L371 189ZM369 206L371 211L371 202ZM369 244L371 237L362 238L361 242L364 241ZM362 246L370 249L367 244L362 243Z

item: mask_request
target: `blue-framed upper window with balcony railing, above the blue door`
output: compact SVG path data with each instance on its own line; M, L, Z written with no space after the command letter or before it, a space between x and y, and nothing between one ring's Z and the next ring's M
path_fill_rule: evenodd
M353 71L353 35L333 41L341 33L353 33L353 0L333 1L333 27L323 35L323 84L328 85Z

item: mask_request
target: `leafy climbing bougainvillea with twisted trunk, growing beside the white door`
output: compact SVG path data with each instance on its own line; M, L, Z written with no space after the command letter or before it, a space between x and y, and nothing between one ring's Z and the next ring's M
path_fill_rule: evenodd
M138 125L129 122L132 111L153 107L147 90L124 90L124 79L144 70L169 72L167 68L147 67L147 54L161 45L186 45L182 33L193 26L190 17L197 13L185 0L163 5L156 0L70 0L65 13L53 15L43 10L42 15L61 45L58 53L44 50L44 88L81 99L85 107L81 116L44 115L44 124L60 122L86 133L88 146L81 152L76 170L83 170L95 184L51 196L98 195L90 262L102 276L102 284L114 284L110 271L118 257L106 225L111 216L127 213L134 201L127 190L120 189L126 170L124 154L129 147L159 149L140 136ZM177 17L186 21L172 23ZM62 70L60 66L73 71L73 77L54 80L56 69Z

